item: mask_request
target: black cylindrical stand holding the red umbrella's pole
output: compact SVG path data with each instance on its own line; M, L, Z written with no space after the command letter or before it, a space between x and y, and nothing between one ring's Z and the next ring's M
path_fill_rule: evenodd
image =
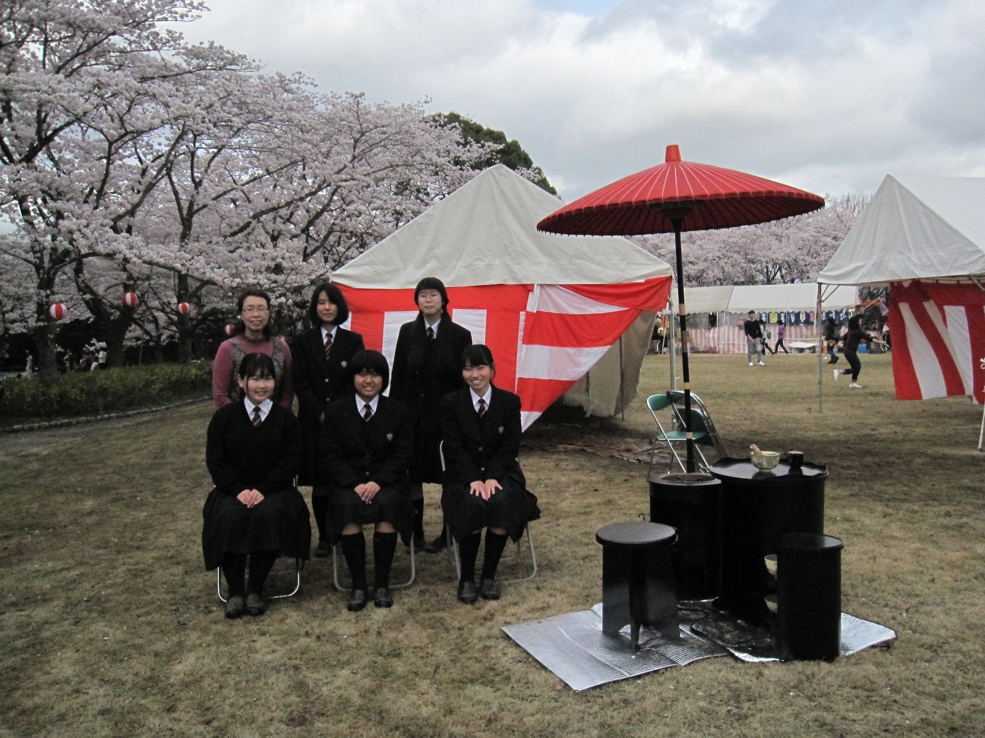
M677 529L678 599L714 599L722 580L722 483L711 474L653 474L650 521Z

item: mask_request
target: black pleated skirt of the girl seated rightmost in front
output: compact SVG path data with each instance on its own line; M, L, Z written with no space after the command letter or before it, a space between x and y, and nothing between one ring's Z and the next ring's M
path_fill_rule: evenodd
M541 517L537 498L512 477L500 481L502 489L488 500L473 495L469 484L445 484L441 492L441 509L445 523L455 540L484 527L505 528L515 542L523 535L528 521Z

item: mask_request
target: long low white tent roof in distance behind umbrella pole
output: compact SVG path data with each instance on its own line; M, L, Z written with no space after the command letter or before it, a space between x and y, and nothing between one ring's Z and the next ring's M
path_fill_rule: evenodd
M671 291L677 302L677 292ZM823 292L825 310L840 310L858 302L854 287L826 287ZM740 284L724 287L686 287L685 306L689 313L746 313L785 310L811 311L817 306L818 284L813 281L797 284Z

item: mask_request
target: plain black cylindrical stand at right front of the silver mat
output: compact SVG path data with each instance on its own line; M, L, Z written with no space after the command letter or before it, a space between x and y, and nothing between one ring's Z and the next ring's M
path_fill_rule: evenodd
M777 641L784 660L831 661L841 647L841 549L833 535L787 533L777 546Z

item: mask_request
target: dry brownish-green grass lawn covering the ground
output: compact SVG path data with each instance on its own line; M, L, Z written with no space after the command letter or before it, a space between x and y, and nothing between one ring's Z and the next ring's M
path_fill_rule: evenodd
M198 404L0 437L0 736L983 735L981 408L893 400L889 358L861 358L862 390L824 367L823 414L809 355L695 356L692 383L733 456L755 443L830 465L843 609L895 629L888 650L715 658L576 694L499 630L600 601L594 530L648 510L646 466L545 447L645 437L642 398L624 423L531 429L541 572L498 602L459 604L454 565L421 554L392 610L353 614L312 559L295 599L227 621L202 569ZM648 357L641 396L667 384L666 357ZM406 564L398 548L395 580Z

